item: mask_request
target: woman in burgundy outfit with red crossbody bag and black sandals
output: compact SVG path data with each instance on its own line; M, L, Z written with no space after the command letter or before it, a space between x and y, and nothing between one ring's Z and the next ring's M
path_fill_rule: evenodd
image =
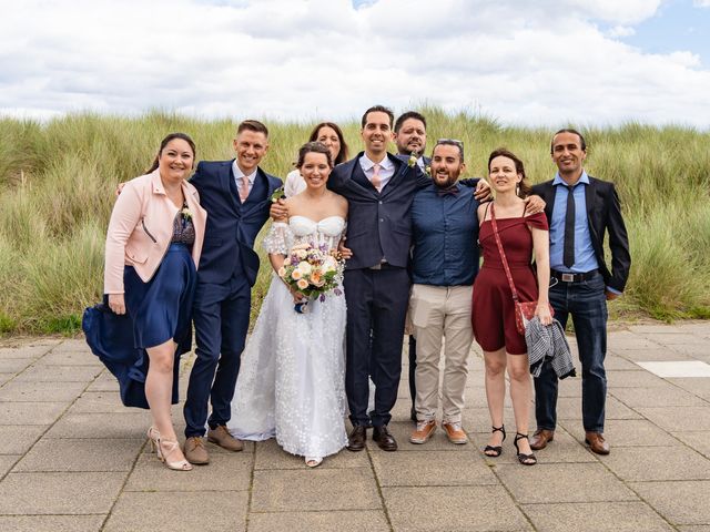
M524 197L530 187L525 182L523 162L515 154L503 149L494 151L488 158L488 180L490 187L496 192L496 200L489 204L484 203L478 208L484 264L474 284L471 314L474 335L484 350L486 397L493 426L490 441L484 453L498 457L503 452L503 441L506 437L503 405L507 369L516 422L514 443L520 463L532 466L537 463L537 459L527 439L531 393L527 347L525 337L515 326L513 293L498 252L491 216L496 217L498 234L518 297L520 301L538 299L536 315L542 325L549 325L552 320L547 296L548 225L545 213L525 215ZM530 264L534 250L537 279Z

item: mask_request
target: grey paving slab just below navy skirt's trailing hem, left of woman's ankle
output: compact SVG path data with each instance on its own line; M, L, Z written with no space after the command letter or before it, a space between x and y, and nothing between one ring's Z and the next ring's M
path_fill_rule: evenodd
M138 409L110 416L67 413L47 432L45 438L144 438L150 424L148 411Z

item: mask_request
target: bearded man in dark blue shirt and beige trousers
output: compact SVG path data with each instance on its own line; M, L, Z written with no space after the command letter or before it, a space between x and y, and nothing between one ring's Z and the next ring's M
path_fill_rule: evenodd
M467 359L473 341L471 290L478 272L478 202L473 188L457 183L464 172L464 146L440 140L432 154L432 181L412 204L414 253L409 318L417 340L417 427L412 443L425 443L436 429L439 358L444 347L442 428L453 443L466 443L462 430Z

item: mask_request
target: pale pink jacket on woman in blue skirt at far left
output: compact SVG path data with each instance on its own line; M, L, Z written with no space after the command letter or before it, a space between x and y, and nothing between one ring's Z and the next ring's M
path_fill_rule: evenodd
M182 192L195 227L192 258L197 267L207 212L200 206L197 190L186 181L182 182ZM133 266L145 283L153 277L173 237L173 221L178 211L165 194L158 170L125 184L109 222L104 294L123 294L124 265Z

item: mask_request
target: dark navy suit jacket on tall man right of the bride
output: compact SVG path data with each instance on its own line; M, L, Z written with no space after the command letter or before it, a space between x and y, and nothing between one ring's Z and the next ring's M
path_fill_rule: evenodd
M328 178L328 188L348 203L347 242L353 258L346 269L368 268L385 258L393 266L406 267L412 245L409 207L417 190L430 180L417 165L409 167L396 155L387 154L395 173L377 192L365 176L359 157L338 164Z

